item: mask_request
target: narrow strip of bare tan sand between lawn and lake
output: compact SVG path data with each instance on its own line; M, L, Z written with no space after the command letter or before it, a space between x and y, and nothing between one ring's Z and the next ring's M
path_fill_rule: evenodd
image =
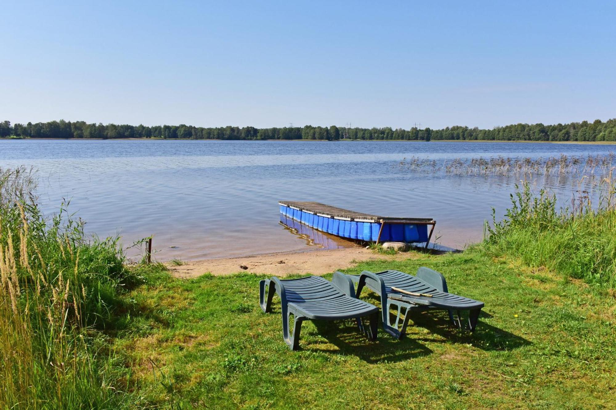
M286 276L293 273L324 275L338 269L355 266L365 260L403 260L419 257L416 252L398 252L395 255L379 254L363 247L330 249L308 252L278 252L226 259L190 260L176 266L165 265L177 278L195 278L204 273L230 275L238 272L264 273Z

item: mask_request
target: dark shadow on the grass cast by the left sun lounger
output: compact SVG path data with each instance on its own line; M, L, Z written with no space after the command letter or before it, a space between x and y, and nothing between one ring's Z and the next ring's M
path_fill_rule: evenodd
M357 328L355 321L312 321L319 334L339 350L310 344L307 350L339 355L354 355L367 363L399 362L430 355L432 350L413 339L396 340L378 328L378 339L371 342ZM379 323L380 326L380 323Z

